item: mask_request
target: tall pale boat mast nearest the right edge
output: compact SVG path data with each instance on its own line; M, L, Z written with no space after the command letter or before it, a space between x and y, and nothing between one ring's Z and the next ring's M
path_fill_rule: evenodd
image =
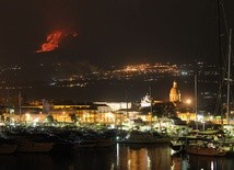
M230 124L229 115L230 115L230 72L231 72L231 55L232 55L232 29L230 30L230 37L229 37L229 60L227 60L227 91L226 91L226 124Z

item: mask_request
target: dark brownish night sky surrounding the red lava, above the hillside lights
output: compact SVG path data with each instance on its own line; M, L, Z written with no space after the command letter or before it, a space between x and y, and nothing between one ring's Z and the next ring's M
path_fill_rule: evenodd
M214 61L215 5L217 0L1 0L0 60ZM230 27L233 8L233 0L224 0ZM57 30L78 36L63 39L55 52L34 53Z

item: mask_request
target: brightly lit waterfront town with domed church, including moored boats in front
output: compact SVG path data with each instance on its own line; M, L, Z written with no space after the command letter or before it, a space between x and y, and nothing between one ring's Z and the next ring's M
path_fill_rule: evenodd
M190 100L182 100L183 94L176 81L172 82L168 91L168 101L154 100L150 89L140 103L126 101L74 104L43 100L27 105L20 104L17 112L9 109L1 114L1 143L4 145L1 145L0 150L4 154L47 152L57 149L68 151L124 143L167 144L173 154L234 154L232 118L199 114ZM233 116L233 109L231 111L230 117ZM51 135L57 138L51 139ZM5 149L7 144L12 146L12 139L17 146L20 144L20 148L14 145L13 148L8 146L10 150Z

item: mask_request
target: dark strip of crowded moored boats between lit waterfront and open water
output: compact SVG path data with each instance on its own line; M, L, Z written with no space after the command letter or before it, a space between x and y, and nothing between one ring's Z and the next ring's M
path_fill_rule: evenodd
M80 148L105 148L116 144L167 145L174 154L186 152L200 156L234 156L233 134L223 129L187 131L177 134L112 128L110 126L5 126L1 127L1 154L14 152L69 152ZM98 127L98 128L97 128ZM169 128L169 127L167 127ZM189 127L187 127L189 128ZM16 147L16 148L15 148ZM7 151L8 150L8 151Z

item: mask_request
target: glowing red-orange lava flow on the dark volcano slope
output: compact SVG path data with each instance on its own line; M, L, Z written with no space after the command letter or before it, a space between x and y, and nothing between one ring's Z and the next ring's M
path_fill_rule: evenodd
M36 50L36 53L51 52L59 48L59 43L69 35L74 37L78 35L78 33L65 33L62 31L52 32L51 34L47 35L46 42L42 44L40 49Z

